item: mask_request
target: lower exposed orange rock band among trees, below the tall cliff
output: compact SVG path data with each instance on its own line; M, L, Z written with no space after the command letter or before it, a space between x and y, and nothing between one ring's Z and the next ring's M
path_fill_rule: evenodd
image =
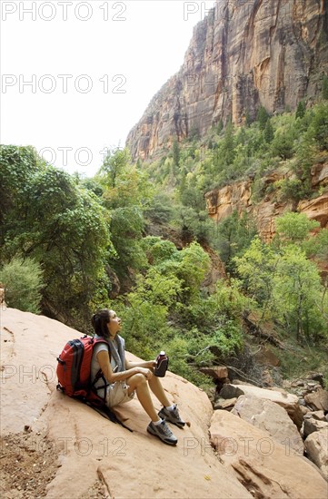
M264 188L283 177L273 172L263 179ZM313 187L328 185L327 163L313 166L312 185ZM253 203L252 191L253 181L240 181L227 185L223 189L207 192L205 199L209 216L213 220L221 221L231 215L234 210L240 214L246 211L255 220L257 229L266 242L273 239L275 219L292 209L305 213L310 220L319 221L322 228L328 227L328 192L309 201L300 201L297 206L293 206L292 201L277 201L279 191L273 191L264 196L263 200Z

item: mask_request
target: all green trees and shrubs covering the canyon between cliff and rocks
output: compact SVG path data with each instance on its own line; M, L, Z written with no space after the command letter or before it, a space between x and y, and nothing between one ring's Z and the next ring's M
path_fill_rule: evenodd
M199 367L243 349L250 314L293 345L323 348L328 230L292 211L265 244L246 215L210 220L204 193L252 177L253 202L265 189L277 200L317 196L323 188L313 190L311 168L327 161L327 138L323 98L295 113L260 108L257 121L238 129L219 123L202 140L194 131L147 164L132 164L127 150L109 153L92 179L55 169L32 147L2 146L0 280L8 305L84 332L95 308L115 308L128 349L154 357L164 348L174 372L198 384ZM290 174L264 186L263 175L277 170ZM204 285L209 247L226 269L215 289Z

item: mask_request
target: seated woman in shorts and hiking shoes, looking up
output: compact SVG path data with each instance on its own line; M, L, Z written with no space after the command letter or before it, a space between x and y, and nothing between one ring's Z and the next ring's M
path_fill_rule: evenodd
M145 412L151 418L147 431L158 436L165 444L176 445L177 438L166 421L176 426L183 427L184 421L179 416L176 405L171 405L165 396L160 379L153 376L156 362L129 362L125 357L124 338L117 333L121 329L121 319L117 317L114 310L104 308L96 312L92 317L94 327L94 338L104 338L104 342L96 343L91 361L91 381L97 391L97 395L105 400L106 406L114 407L124 404L138 396ZM96 380L99 370L104 377ZM157 414L149 392L149 388L163 404L163 408Z

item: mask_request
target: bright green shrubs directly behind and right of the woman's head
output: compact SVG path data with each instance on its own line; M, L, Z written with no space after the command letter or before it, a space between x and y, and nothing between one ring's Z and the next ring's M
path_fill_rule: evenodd
M138 276L133 291L111 304L123 318L126 347L150 358L164 349L175 373L206 384L196 369L243 345L234 317L243 298L236 285L230 289L224 282L213 296L201 297L208 256L195 242L178 251L169 241L147 237L144 249L152 266Z

